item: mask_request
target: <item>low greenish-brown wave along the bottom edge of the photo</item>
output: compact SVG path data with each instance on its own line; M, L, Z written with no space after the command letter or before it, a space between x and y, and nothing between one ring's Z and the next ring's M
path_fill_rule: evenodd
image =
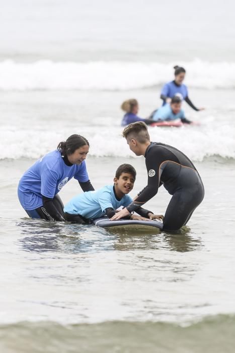
M181 326L167 322L111 321L61 325L19 322L0 326L5 353L233 353L234 316L216 315Z

